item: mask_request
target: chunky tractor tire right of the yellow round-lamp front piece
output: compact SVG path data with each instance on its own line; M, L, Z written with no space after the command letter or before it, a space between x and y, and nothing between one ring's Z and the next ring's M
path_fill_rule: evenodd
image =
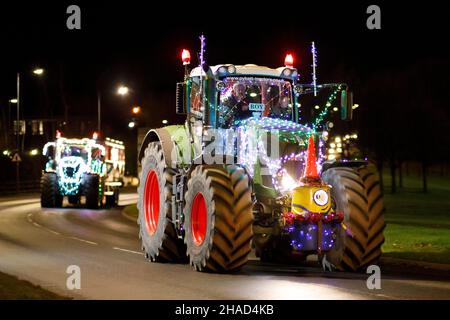
M328 270L361 271L381 256L384 242L383 196L371 166L326 170L323 180L332 186L336 211L343 211L343 227L334 248L322 257Z

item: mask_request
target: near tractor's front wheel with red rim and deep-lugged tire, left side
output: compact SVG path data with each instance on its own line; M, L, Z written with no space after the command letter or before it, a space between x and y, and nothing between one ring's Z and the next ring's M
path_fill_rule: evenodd
M187 254L195 270L234 272L248 261L253 238L249 177L234 165L199 165L185 194Z

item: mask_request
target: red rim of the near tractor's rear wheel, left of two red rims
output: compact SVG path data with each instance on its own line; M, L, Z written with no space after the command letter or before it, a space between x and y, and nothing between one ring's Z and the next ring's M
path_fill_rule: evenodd
M159 219L159 183L155 170L147 175L144 189L144 217L149 234L154 234L158 227Z

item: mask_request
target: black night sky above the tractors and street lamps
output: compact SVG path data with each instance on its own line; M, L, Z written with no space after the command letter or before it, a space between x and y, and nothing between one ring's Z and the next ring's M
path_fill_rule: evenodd
M81 7L81 30L66 28L70 4ZM366 28L370 4L381 7L381 30ZM15 76L21 71L27 118L62 117L67 105L69 119L87 117L95 124L100 90L106 134L127 131L132 104L142 106L143 125L182 120L174 112L175 83L183 76L180 52L188 48L195 56L201 33L207 38L211 65L279 67L289 51L307 83L311 81L309 46L315 41L319 82L350 83L355 102L362 104L372 97L361 88L376 74L395 78L430 61L448 70L449 19L444 8L444 2L429 1L396 1L395 6L365 1L215 1L214 6L187 1L162 6L150 1L3 1L0 106L15 96ZM30 73L35 66L46 69L44 78ZM447 73L434 71L424 83L448 84ZM132 89L126 98L115 94L122 83ZM377 85L373 92L383 91L386 84ZM448 101L448 90L440 93L440 101ZM448 119L445 104L440 108L443 119ZM404 108L407 121L409 112Z

